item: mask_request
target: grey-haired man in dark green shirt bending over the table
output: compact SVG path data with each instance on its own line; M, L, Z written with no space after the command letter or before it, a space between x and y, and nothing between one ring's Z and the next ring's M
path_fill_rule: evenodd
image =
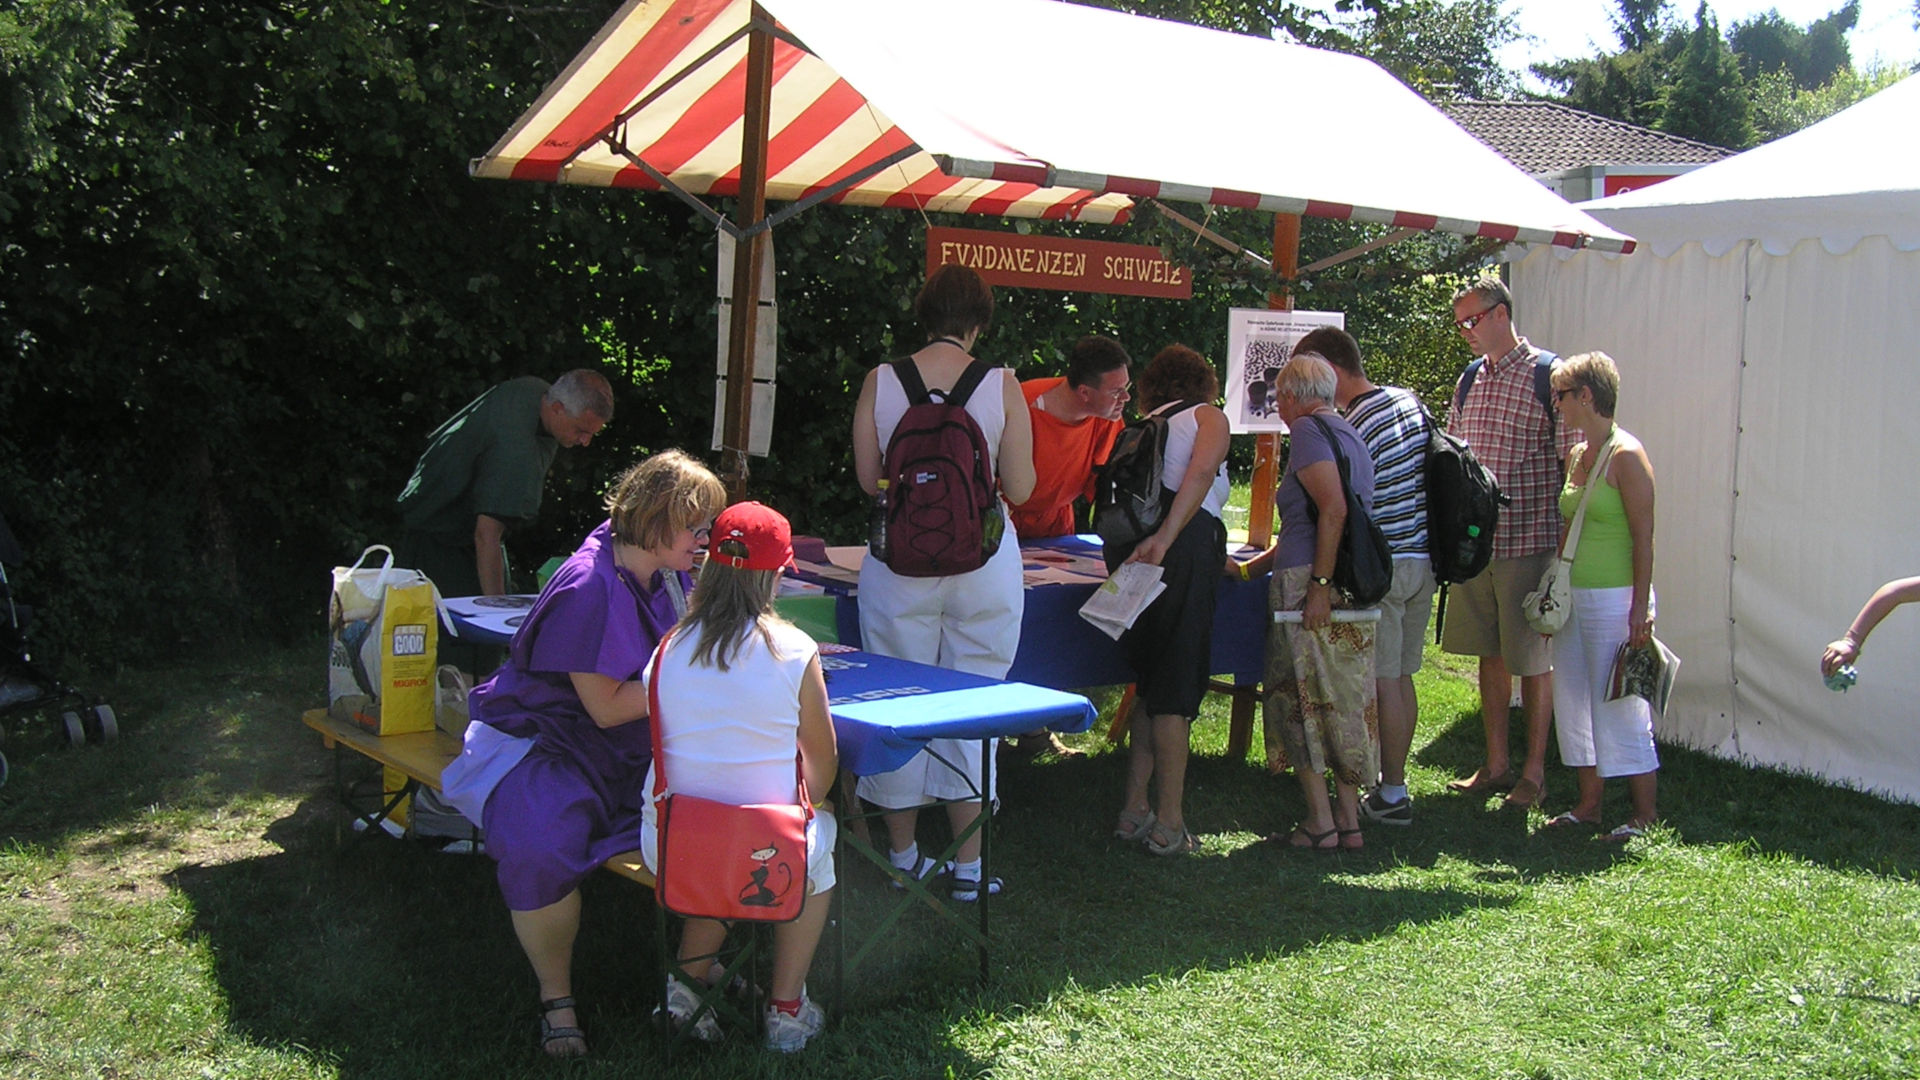
M507 528L540 513L555 452L593 442L611 419L612 386L588 369L553 386L524 375L480 394L434 430L399 492L394 559L442 596L503 596Z

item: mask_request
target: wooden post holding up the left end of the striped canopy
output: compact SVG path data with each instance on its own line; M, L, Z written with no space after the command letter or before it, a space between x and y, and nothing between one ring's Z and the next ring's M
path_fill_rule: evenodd
M739 148L739 213L741 229L751 229L766 217L766 133L774 96L774 37L766 27L774 17L753 6L753 29L747 35L747 102ZM726 421L722 425L722 471L728 496L747 498L747 448L753 444L753 342L760 323L760 263L766 259L768 231L753 233L733 248L733 315L726 340Z

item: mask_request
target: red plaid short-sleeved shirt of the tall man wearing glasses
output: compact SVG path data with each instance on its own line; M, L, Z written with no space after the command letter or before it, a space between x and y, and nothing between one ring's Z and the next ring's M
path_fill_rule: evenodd
M1559 548L1561 461L1574 430L1561 430L1555 446L1553 417L1534 396L1536 350L1526 338L1500 359L1488 359L1473 380L1473 390L1448 417L1448 430L1473 448L1500 490L1513 500L1500 511L1494 557L1517 559ZM1569 438L1571 436L1571 438Z

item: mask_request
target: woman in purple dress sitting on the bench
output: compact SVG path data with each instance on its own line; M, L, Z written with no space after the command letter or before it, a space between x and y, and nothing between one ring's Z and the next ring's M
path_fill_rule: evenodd
M720 480L670 450L632 467L609 519L553 575L507 663L474 688L445 798L486 830L499 892L540 980L540 1045L588 1051L572 999L580 882L639 847L647 798L647 657L685 613L687 571L726 505Z

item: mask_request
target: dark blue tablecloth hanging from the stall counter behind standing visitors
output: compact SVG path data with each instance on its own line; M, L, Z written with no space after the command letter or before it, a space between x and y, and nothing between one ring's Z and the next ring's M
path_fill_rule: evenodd
M1098 536L1060 536L1027 540L1021 552L1073 552L1100 557ZM1098 588L1087 584L1041 584L1027 588L1027 607L1020 621L1020 651L1006 673L1018 682L1075 690L1133 682L1133 667L1119 642L1079 617L1079 609ZM860 644L860 598L841 592L835 623L839 640ZM1235 682L1260 682L1267 663L1267 577L1238 580L1223 577L1213 605L1213 675Z

